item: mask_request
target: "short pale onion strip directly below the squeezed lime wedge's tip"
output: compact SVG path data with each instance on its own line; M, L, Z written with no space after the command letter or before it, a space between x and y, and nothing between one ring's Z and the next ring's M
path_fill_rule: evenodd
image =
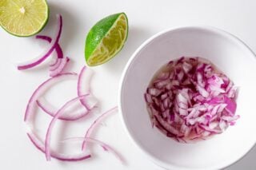
M90 79L93 75L92 69L84 66L79 73L78 76L78 96L82 96L84 94L90 93ZM86 107L86 109L90 110L90 105L87 105L86 99L81 100L82 105Z

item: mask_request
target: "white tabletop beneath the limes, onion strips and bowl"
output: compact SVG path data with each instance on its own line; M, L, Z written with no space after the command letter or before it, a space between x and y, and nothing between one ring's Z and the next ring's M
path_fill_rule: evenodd
M126 61L134 50L151 35L161 30L190 25L216 26L238 36L256 51L256 2L254 0L51 0L49 4L50 22L41 34L52 34L54 14L63 15L64 28L61 45L64 53L72 59L70 70L76 72L84 65L84 40L90 27L108 14L124 11L128 15L130 34L122 52L106 65L94 68L93 92L101 101L102 111L117 105L118 81ZM34 38L15 38L6 34L2 29L0 37L2 51L0 55L2 58L0 63L2 73L0 169L162 169L140 154L138 148L130 142L117 115L110 117L106 124L98 129L95 136L121 152L126 158L125 166L98 147L95 148L95 156L91 160L78 163L62 163L57 160L46 162L45 156L38 152L28 140L22 119L31 93L48 77L47 67L23 72L14 67L17 61L26 61L26 59L37 56L46 44ZM69 97L74 97L75 85L72 86L74 88L70 87L63 84L63 87L60 87L60 93L58 88L50 91L51 100L58 104L59 98L65 101ZM93 121L94 118L88 121ZM38 121L38 125L47 125L44 120ZM89 124L88 121L85 121L86 125ZM60 130L66 127L69 135L82 136L86 128L86 125L85 127L83 125L82 121L72 127L60 125ZM71 128L76 130L70 130ZM61 136L67 136L67 134ZM227 169L254 169L256 167L255 157L256 148L243 160Z

